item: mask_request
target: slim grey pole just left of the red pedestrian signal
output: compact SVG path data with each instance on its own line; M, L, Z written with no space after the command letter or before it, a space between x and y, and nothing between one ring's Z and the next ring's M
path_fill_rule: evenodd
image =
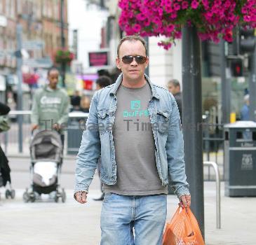
M225 41L220 41L220 74L222 79L222 123L229 123L230 116L230 80L226 78L226 49Z

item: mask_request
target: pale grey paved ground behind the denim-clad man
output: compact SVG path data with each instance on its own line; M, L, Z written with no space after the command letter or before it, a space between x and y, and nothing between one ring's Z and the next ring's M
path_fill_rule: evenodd
M41 202L22 202L24 189L16 189L15 200L0 202L1 245L96 245L100 243L101 202L93 201L100 195L97 179L90 190L88 204L72 199L67 190L67 202L54 203L43 196ZM222 184L222 190L223 190ZM1 190L1 193L3 191ZM2 195L3 196L3 195ZM222 191L222 228L217 230L215 213L215 183L205 183L206 245L255 245L255 197L224 197ZM168 218L174 214L177 198L168 196ZM151 245L151 244L149 244ZM152 244L154 245L154 244Z

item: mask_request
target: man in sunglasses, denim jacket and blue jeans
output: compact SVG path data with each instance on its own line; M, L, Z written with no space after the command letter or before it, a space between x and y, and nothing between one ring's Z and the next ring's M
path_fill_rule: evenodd
M124 37L116 57L122 73L116 83L96 92L90 105L74 197L87 202L101 155L101 245L162 244L168 175L181 204L191 202L177 104L144 75L148 64L144 39Z

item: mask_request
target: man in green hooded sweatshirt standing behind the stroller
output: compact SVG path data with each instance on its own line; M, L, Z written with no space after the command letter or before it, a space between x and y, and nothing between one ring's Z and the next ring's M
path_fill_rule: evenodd
M57 130L64 145L63 129L67 127L69 118L69 97L67 92L59 88L59 71L48 70L48 85L36 90L32 104L32 130Z

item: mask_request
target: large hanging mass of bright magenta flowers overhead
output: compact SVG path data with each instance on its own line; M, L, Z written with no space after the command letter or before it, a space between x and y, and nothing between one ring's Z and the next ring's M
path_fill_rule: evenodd
M201 40L232 41L236 25L256 27L255 0L120 0L119 25L126 34L166 36L168 49L181 38L182 27L194 26Z

